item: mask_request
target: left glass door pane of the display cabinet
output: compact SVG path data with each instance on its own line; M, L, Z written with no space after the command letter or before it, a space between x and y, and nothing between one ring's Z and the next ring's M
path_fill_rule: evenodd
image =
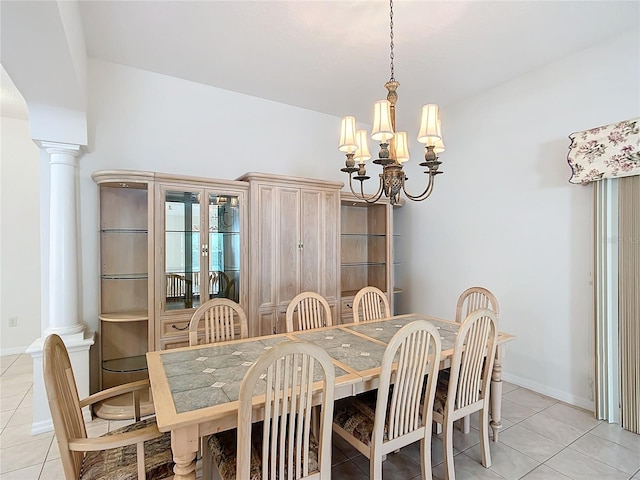
M200 306L200 196L165 191L165 310Z

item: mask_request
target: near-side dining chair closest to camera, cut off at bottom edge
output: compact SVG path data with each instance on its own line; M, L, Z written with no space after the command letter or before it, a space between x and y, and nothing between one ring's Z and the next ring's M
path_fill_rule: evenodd
M317 382L322 382L320 394ZM334 384L333 362L318 345L283 342L263 353L240 385L237 430L212 435L208 442L214 478L330 479ZM316 396L317 437L311 421ZM264 399L264 420L252 423L256 398L261 404Z

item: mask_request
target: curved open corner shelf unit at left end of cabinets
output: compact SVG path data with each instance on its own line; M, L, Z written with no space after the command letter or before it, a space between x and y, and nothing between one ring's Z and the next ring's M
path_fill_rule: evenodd
M153 348L153 176L145 172L93 174L100 203L100 388L148 377L145 354ZM100 402L106 419L133 417L131 395ZM141 414L153 413L149 395Z

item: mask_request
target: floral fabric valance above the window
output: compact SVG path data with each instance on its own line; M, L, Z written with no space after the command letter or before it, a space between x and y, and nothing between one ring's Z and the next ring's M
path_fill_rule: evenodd
M569 135L571 183L640 175L640 118Z

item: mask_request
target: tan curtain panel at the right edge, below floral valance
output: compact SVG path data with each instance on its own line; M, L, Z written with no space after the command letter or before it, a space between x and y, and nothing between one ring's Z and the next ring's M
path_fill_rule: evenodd
M620 179L618 196L620 419L640 433L640 177Z

